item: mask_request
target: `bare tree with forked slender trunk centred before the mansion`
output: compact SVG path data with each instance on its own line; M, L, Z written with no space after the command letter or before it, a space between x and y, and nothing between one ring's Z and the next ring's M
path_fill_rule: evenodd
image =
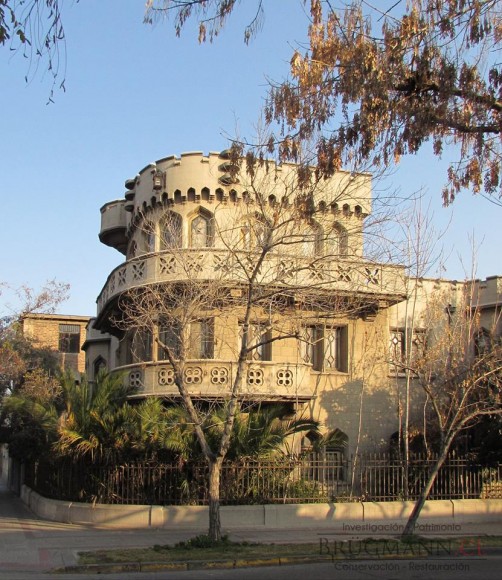
M237 156L228 162L227 177L240 181L241 193L231 191L212 216L202 212L192 220L189 247L182 243L175 206L136 216L137 239L144 250L159 251L169 275L123 292L112 318L138 362L152 349L155 360L166 362L164 382L188 411L209 466L213 540L221 537L220 474L236 413L267 396L298 403L293 392L285 395L287 388L266 393L261 370L250 381L253 363L288 342L305 365L322 365L329 349L334 365L337 322L374 313L384 299L381 286L376 289L382 266L362 256L369 176L340 173L325 181L312 171L309 185L299 188L294 166L249 156L246 161L246 167ZM141 244L135 243L137 251ZM141 259L132 258L138 268ZM390 275L394 299L397 275ZM319 325L333 332L329 340L316 334ZM198 386L202 381L188 364L207 358L231 361L230 370L221 370L217 395ZM292 371L286 369L281 380L292 382ZM217 444L203 428L215 406L224 410Z

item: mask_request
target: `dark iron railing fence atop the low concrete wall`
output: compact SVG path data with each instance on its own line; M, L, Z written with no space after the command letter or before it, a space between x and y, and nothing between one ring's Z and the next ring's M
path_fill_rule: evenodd
M227 461L221 504L415 500L436 458L414 456L406 465L390 455L310 454L302 458ZM107 504L204 505L204 463L95 464L39 461L26 466L25 482L45 497ZM485 467L450 457L430 499L502 498L502 464Z

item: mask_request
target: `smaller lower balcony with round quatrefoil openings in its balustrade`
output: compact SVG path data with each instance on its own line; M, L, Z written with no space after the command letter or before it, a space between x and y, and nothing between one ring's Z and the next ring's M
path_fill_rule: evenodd
M312 398L308 364L275 362L246 363L239 398L262 401L306 401ZM174 372L166 361L126 365L114 369L125 374L139 396L157 395L179 398ZM233 386L237 363L221 360L193 360L185 365L184 381L197 398L227 397Z

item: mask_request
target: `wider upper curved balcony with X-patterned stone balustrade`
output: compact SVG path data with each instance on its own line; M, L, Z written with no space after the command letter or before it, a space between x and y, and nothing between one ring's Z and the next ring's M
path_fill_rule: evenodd
M129 260L109 275L97 299L98 318L110 300L134 287L162 282L211 281L222 285L246 285L255 267L250 252L216 248L180 249L146 254ZM257 283L285 289L312 288L343 294L367 295L372 300L403 299L403 268L360 260L298 258L270 254L261 264Z

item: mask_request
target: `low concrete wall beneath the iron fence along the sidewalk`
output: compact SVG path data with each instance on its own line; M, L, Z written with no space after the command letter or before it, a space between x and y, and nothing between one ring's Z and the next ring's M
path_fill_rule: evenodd
M23 485L21 499L39 517L54 522L108 528L207 527L206 506L131 506L85 504L42 497ZM329 527L344 532L398 531L413 502L359 502L296 505L222 506L223 529ZM502 522L502 500L463 499L426 502L419 531L460 531L463 524ZM376 527L375 527L376 526Z

